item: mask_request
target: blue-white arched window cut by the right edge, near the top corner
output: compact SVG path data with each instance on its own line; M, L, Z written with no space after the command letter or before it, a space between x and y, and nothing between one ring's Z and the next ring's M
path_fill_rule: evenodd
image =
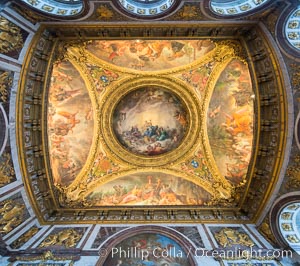
M285 23L285 37L289 44L300 50L300 5L292 11Z

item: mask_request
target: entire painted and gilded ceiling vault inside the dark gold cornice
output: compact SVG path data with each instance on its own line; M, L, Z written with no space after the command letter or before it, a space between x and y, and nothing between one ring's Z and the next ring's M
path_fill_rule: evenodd
M46 125L60 206L237 206L254 124L239 42L64 47L53 65Z

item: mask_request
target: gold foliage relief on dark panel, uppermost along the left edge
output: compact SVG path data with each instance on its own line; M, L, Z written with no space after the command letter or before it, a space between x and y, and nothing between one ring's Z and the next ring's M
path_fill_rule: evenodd
M8 53L23 47L23 38L19 27L0 16L0 53Z

